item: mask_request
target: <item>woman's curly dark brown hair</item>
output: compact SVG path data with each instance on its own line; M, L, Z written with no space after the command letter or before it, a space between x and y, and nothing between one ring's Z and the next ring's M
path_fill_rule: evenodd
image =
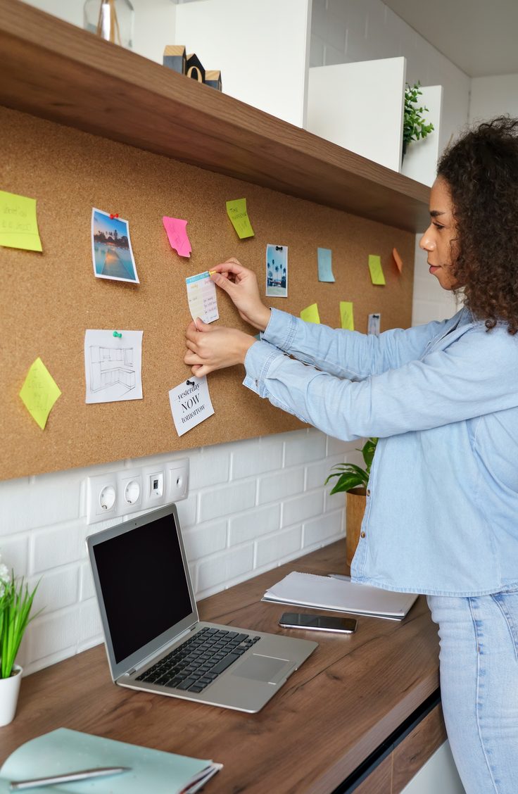
M477 125L437 166L450 189L458 229L452 272L464 303L488 330L518 332L518 118Z

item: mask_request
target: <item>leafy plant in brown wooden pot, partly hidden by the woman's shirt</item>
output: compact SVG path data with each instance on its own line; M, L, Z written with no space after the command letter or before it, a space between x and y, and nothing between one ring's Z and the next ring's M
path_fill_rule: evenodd
M370 467L376 451L377 438L368 438L358 449L363 456L365 468L354 463L337 463L331 468L336 469L327 477L325 484L336 478L330 493L345 491L346 496L346 563L350 566L354 552L360 539L361 520L365 513L367 484L369 483Z

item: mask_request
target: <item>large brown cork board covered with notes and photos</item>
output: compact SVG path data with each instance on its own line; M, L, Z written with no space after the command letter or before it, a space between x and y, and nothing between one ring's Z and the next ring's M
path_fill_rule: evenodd
M43 245L42 253L0 249L0 479L303 427L243 387L243 368L236 367L208 378L215 415L176 434L168 391L190 376L183 362L191 320L185 279L228 256L256 270L264 293L266 245L288 246L288 298L267 299L271 306L299 314L316 302L321 322L339 327L339 301L349 300L359 331L366 332L371 312L381 313L381 330L411 323L412 233L6 108L0 131L0 189L37 199ZM255 232L245 241L225 206L242 197ZM140 285L94 277L93 206L129 221ZM190 259L170 248L163 215L188 220ZM317 247L332 249L335 283L319 283ZM381 256L385 287L370 281L369 253ZM219 291L218 308L218 322L255 333ZM89 328L144 332L143 399L85 404ZM37 357L62 391L43 431L18 397Z

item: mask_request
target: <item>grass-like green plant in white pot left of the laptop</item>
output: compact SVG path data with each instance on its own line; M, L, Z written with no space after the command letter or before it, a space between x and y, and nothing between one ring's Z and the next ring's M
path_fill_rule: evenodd
M14 572L0 563L0 726L14 719L20 691L20 665L14 663L21 640L31 618L34 595L23 578L17 581ZM36 615L33 615L36 617Z

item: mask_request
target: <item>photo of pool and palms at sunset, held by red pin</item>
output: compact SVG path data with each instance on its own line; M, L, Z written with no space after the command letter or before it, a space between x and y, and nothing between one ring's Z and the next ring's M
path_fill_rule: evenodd
M122 218L91 211L91 250L98 279L140 283L130 241L130 225Z

